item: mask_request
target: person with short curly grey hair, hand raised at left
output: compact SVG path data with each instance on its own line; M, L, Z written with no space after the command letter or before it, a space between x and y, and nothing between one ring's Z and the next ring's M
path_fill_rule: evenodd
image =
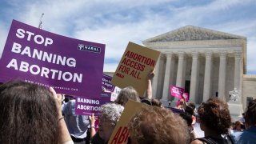
M124 107L116 103L106 103L102 105L99 109L100 116L98 122L98 132L95 132L95 118L92 114L90 119L91 127L91 143L107 143L110 139L110 136L114 130L114 126L118 123L119 118L121 117ZM96 134L95 134L96 133ZM103 141L102 141L103 140Z

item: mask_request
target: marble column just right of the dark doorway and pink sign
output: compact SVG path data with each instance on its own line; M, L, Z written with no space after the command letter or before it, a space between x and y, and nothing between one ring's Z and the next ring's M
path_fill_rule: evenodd
M190 102L195 102L198 85L198 52L192 52L192 70L190 79Z

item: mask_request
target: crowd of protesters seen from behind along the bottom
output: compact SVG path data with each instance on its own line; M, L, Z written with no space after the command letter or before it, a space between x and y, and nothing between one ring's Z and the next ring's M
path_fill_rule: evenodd
M109 142L129 100L146 105L128 122L127 143L256 143L256 99L247 106L244 121L239 120L232 126L228 105L218 98L210 98L197 108L182 97L177 107L182 113L166 109L152 97L153 77L151 72L144 97L128 86L114 102L100 106L98 117L74 114L75 100L70 98L62 106L62 94L56 94L53 88L22 81L3 83L0 86L0 143L104 144ZM194 130L196 122L204 131L202 138L198 138Z

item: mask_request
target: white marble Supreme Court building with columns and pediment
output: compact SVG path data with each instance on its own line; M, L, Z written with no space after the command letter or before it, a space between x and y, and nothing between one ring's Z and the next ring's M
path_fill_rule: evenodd
M161 56L155 68L153 97L174 101L170 85L183 87L190 102L200 104L210 97L229 103L230 114L240 115L256 98L256 77L246 75L246 37L184 26L142 42ZM237 89L238 101L230 101Z

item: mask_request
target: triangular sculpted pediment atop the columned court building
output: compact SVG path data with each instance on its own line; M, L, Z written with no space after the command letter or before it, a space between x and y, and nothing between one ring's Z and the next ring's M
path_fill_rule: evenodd
M209 30L198 26L184 26L154 38L146 39L143 42L178 42L178 41L204 41L204 40L225 40L225 39L246 39L235 34L228 34L217 30Z

